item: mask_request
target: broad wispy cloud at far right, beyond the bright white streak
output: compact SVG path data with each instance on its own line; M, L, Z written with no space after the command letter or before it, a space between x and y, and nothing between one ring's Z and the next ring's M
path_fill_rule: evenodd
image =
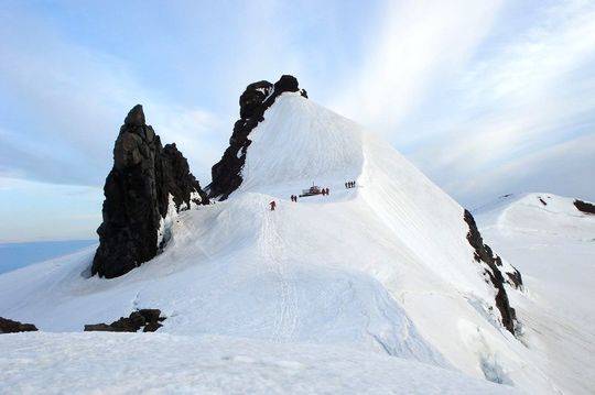
M435 144L414 152L459 197L477 199L474 195L480 190L461 193L464 180L476 184L495 167L563 146L577 134L595 133L595 6L565 6L543 10L536 25L472 65L456 88L459 94L453 96L464 105L455 106L453 117L424 136ZM565 160L558 155L556 161L570 173L575 158L566 153ZM537 178L544 164L532 163L526 172ZM550 183L550 189L577 191L570 184L560 188L563 178ZM494 179L491 188L507 185L506 179Z

